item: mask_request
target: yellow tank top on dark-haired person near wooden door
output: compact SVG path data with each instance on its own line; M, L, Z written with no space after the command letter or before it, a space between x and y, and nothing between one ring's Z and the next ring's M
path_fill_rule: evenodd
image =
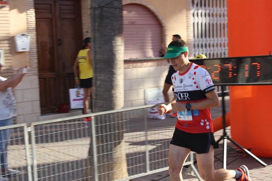
M88 51L90 49L80 50L77 54L78 67L79 67L79 78L91 78L93 77L93 67L89 62Z

